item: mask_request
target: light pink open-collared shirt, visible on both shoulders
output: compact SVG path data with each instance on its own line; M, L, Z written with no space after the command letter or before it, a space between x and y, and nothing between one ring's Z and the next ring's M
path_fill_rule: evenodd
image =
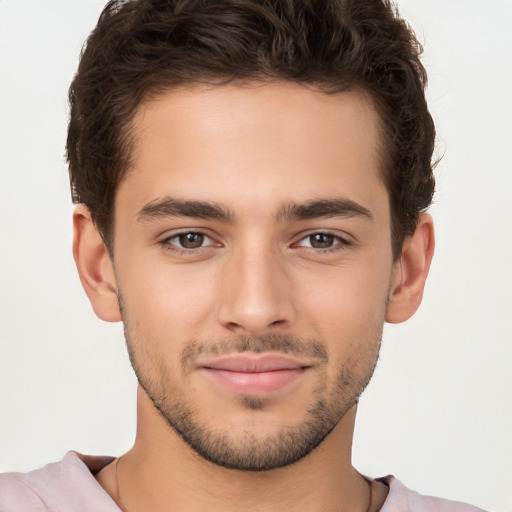
M121 512L94 474L113 460L68 452L60 461L30 473L0 474L0 512ZM479 508L422 496L393 476L380 512L483 512Z

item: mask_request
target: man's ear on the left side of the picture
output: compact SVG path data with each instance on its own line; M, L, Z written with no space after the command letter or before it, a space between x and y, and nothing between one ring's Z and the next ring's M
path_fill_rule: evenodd
M106 322L120 321L114 265L84 205L73 214L73 235L73 257L94 312Z

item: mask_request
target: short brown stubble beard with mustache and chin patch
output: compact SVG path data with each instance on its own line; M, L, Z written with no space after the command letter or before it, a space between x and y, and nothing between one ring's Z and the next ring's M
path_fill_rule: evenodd
M120 301L122 306L122 301ZM183 441L203 459L242 471L265 471L294 464L311 453L332 432L345 414L357 403L361 393L371 380L377 364L382 336L382 326L374 339L360 347L355 357L347 359L339 369L333 384L325 376L318 383L304 420L293 427L285 427L276 433L258 435L257 431L242 429L238 436L232 431L213 429L201 422L193 405L181 399L172 382L170 372L147 344L137 343L132 326L123 311L126 344L131 365L139 385L152 401L166 423ZM207 347L207 348L206 348ZM325 347L315 340L303 340L291 336L269 335L260 338L228 338L216 343L191 341L182 354L182 366L193 361L199 353L278 351L297 356L317 357L328 362ZM306 352L306 353L305 353ZM360 359L367 362L361 371ZM185 371L182 374L186 373ZM264 412L267 400L260 397L240 397L240 407L246 411Z

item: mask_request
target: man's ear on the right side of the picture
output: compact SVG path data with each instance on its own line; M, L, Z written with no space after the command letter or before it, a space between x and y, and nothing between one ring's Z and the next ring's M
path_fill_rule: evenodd
M386 322L408 320L418 309L434 254L434 223L428 213L422 213L416 230L402 246L391 280Z

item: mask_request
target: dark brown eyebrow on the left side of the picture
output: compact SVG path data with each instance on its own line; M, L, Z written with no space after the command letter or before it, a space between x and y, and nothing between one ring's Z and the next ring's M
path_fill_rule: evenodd
M169 196L147 203L137 213L139 221L165 217L193 217L196 219L232 221L234 215L230 210L216 203L183 201Z

